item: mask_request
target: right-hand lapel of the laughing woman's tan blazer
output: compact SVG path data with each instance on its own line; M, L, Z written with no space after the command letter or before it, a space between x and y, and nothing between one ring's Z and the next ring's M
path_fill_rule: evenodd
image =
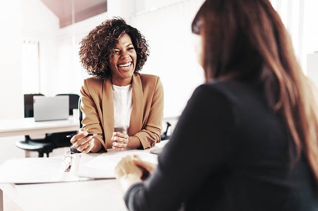
M144 105L144 93L143 86L139 74L133 74L132 78L133 89L133 108L130 116L129 123L129 136L133 136L140 132L143 122L143 105Z

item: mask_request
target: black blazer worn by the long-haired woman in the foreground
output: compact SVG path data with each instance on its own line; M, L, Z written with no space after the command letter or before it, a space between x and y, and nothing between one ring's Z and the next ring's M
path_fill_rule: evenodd
M131 211L317 211L318 186L304 156L260 88L199 86L144 183L129 188Z

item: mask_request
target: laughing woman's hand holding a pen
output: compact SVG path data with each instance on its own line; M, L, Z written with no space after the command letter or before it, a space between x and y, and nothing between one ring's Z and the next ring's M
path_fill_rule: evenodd
M73 147L82 153L88 153L94 147L94 138L88 136L85 129L80 129L79 134L75 135L71 139Z

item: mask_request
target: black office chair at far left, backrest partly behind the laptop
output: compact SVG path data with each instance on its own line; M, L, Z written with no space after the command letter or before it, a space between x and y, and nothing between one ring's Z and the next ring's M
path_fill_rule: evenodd
M44 96L43 94L24 94L24 117L34 117L33 112L33 96ZM49 153L52 152L55 147L48 139L48 135L45 135L44 139L31 139L30 136L24 136L25 140L16 141L15 145L24 150L37 151L38 157L43 157L44 153L49 157Z

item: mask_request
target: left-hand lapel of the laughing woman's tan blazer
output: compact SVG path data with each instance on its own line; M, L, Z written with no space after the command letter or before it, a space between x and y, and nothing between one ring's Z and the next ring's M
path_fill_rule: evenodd
M107 148L111 148L112 143L110 140L112 133L114 132L114 99L110 77L104 79L102 109L105 144L107 145Z

